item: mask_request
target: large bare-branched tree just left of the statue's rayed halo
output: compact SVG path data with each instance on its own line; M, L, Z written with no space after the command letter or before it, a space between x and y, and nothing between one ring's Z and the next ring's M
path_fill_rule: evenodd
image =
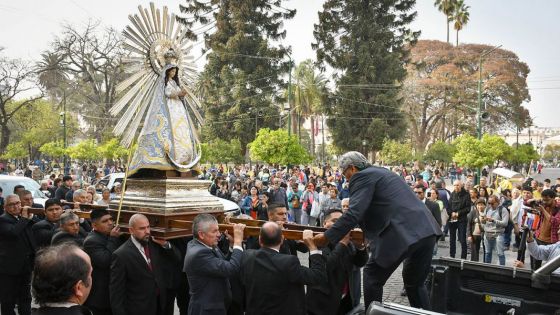
M106 123L113 119L109 109L117 99L117 85L125 77L119 32L100 30L99 23L91 21L82 29L65 25L52 46L39 64L42 84L50 94L71 90L69 109L80 114L85 132L101 141L111 133L112 124Z

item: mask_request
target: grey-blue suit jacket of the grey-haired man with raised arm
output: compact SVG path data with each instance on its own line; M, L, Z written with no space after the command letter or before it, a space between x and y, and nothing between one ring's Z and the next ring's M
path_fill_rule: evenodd
M210 249L193 239L187 245L185 256L191 300L189 315L226 314L232 294L230 277L239 272L243 252L234 249L226 260L219 249Z

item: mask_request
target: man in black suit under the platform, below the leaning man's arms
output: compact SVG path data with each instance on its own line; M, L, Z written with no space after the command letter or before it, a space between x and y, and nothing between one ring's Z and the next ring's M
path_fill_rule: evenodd
M323 227L329 229L341 216L339 209L328 212ZM308 287L307 314L347 314L360 300L360 295L355 296L351 288L355 285L354 268L361 268L367 262L366 247L355 246L347 234L336 246L328 244L321 251L327 261L328 285Z

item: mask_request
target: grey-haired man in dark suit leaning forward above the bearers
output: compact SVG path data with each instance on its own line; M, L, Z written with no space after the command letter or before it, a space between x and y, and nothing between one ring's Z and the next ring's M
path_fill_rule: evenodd
M315 237L317 244L336 244L359 224L371 250L364 268L366 308L381 301L385 282L404 261L403 282L410 305L430 309L424 282L436 237L442 234L436 220L402 178L371 166L361 153L345 153L339 167L350 181L350 209Z

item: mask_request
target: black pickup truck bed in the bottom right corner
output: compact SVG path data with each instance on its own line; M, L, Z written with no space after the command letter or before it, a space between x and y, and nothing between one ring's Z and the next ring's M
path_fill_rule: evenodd
M560 256L531 272L454 258L432 262L428 290L432 312L372 304L366 314L560 315Z

